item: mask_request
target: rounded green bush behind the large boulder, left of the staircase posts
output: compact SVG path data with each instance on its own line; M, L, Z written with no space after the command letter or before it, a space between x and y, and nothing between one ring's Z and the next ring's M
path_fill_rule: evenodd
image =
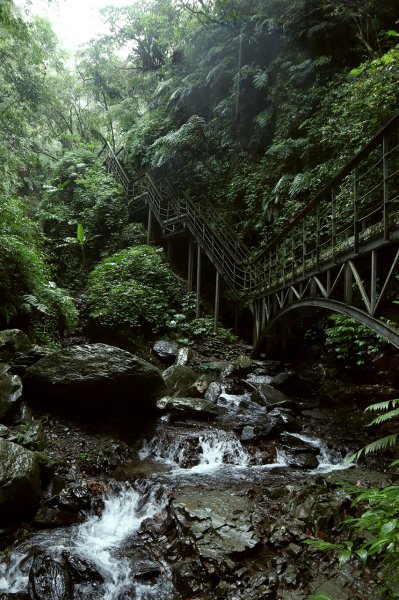
M90 273L87 309L103 326L157 332L170 318L179 291L159 249L133 246L103 259Z

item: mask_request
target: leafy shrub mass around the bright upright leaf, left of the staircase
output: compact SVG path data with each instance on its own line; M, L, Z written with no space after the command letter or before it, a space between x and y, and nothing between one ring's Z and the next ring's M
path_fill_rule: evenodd
M86 148L63 155L45 190L37 216L51 243L59 277L74 286L80 254L85 267L86 261L91 264L126 245L121 239L128 221L126 199Z

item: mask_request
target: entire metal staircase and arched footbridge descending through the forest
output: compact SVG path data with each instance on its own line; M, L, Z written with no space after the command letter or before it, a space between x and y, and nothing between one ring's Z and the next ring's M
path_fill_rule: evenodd
M399 321L399 113L252 261L211 208L138 173L123 149L115 154L106 143L100 156L134 210L146 207L164 236L185 232L197 242L217 272L215 297L220 275L250 304L255 346L293 310L324 308L399 348L397 326L381 320Z

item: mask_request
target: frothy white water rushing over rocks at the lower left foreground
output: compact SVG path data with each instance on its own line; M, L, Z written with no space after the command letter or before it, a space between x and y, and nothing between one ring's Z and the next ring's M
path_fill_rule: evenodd
M142 495L133 488L125 487L119 493L104 499L104 509L100 516L91 515L84 523L71 527L69 531L59 530L60 535L55 530L51 546L47 537L44 542L38 535L35 545L53 557L66 550L69 554L90 561L104 579L103 600L118 600L122 596L127 598L124 593L132 590L133 597L137 600L164 600L169 591L172 593L166 567L164 575L158 578L155 585L134 583L131 564L118 556L124 540L138 531L145 519L162 510L165 500L155 498L157 491L154 489L141 506ZM31 562L27 561L26 555L23 557L15 553L8 567L0 565L0 591L26 591Z

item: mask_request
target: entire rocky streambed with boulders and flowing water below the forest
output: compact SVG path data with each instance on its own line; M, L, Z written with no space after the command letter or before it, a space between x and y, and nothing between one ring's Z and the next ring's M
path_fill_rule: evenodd
M303 542L342 535L338 482L389 482L342 461L373 435L362 403L395 390L245 346L161 343L157 369L2 333L0 599L379 597L372 565Z

